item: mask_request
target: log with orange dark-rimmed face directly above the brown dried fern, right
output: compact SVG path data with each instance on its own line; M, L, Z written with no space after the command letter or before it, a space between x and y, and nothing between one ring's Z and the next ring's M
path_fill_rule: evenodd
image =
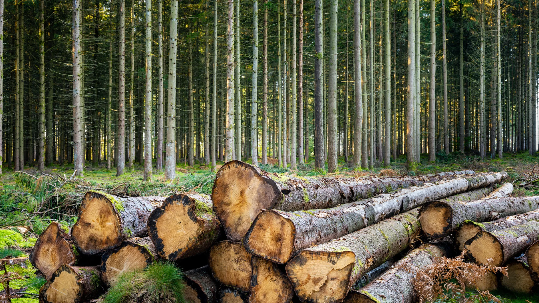
M538 238L539 221L530 221L505 230L480 231L464 244L464 249L475 263L499 267L519 256Z

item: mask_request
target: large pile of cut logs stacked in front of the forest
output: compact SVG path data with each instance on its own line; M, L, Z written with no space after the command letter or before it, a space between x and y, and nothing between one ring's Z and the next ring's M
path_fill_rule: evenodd
M503 183L506 177L473 171L300 177L231 161L218 171L211 196L90 191L71 231L52 223L30 259L47 279L40 302L96 298L121 273L154 260L187 270L188 302L412 302L410 273L400 264L421 268L435 256L452 256L446 242L420 245L420 239L464 234L471 225L475 235L468 231L458 240L471 259L492 258L473 250L485 245L474 244L478 238L498 240L500 264L526 252L523 268L535 287L539 244L531 244L539 236L539 197L508 197L513 186ZM500 221L505 216L514 218ZM480 223L494 219L492 226ZM425 229L434 222L446 225L441 232ZM512 232L530 236L515 244Z

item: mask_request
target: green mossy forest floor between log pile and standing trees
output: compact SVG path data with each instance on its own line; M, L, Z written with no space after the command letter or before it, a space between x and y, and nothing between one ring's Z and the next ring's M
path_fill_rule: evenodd
M351 161L351 158L349 159ZM248 162L251 162L250 160ZM259 160L260 162L260 160ZM269 162L276 162L271 159ZM297 171L279 168L272 164L261 165L261 169L275 173L298 174L301 176L315 176L321 173L313 170L314 159L310 159L305 166L299 166ZM429 163L426 154L421 155L421 166L416 174L431 174L441 171L455 171L472 169L482 171L507 171L510 182L515 185L514 195L539 195L539 157L528 153L505 153L502 159L486 159L481 161L474 154L452 153L450 155L438 154L436 163ZM223 163L217 163L218 167ZM374 170L353 171L350 164L339 158L340 170L338 173L325 173L325 175L395 175L409 174L406 169L405 156L391 161L391 170L382 168L375 163ZM153 180L143 182L143 166L135 164L133 170L126 169L126 173L116 177L116 171L107 170L106 163L92 167L91 162L86 163L84 177L73 178L73 166L51 166L39 178L38 171L32 167L25 167L24 173L13 172L6 165L4 174L0 177L0 258L15 254L27 255L30 252L36 237L53 220L64 224L74 224L78 205L86 191L90 189L103 190L112 193L127 195L170 195L178 191L197 191L210 194L215 179L207 166L201 163L188 167L185 163L178 163L177 178L165 181L162 172L154 170ZM322 173L324 174L324 173ZM25 235L18 229L10 226L25 226L29 232ZM8 266L8 270L15 271L21 277L11 282L11 288L27 287L26 293L37 294L44 284L42 278L34 274L35 269L27 263L26 268L18 265ZM539 303L539 294L514 295L506 292L496 292L504 302L512 303ZM27 296L28 297L28 296ZM13 299L14 303L37 302L35 298ZM438 301L451 302L451 301Z

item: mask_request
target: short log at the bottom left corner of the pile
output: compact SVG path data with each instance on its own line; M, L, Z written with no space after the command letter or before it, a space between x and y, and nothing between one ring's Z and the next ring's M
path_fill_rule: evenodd
M105 291L99 266L62 265L39 290L40 303L79 303Z

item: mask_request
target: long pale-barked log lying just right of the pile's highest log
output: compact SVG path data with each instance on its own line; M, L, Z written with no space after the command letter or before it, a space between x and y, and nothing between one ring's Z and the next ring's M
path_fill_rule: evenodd
M308 211L262 210L244 238L245 249L284 264L307 247L326 243L421 204L500 182L507 174L460 177Z

